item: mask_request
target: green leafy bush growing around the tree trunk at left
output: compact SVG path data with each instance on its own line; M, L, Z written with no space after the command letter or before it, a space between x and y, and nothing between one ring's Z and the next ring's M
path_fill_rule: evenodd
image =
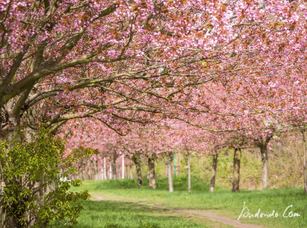
M45 129L40 129L29 143L16 139L1 142L2 174L6 184L4 199L0 202L4 223L10 220L34 228L76 224L83 209L79 200L89 199L90 195L88 191L68 192L70 187L80 186L81 180L63 179L76 172L72 168L75 161L96 152L79 147L67 153L65 142Z

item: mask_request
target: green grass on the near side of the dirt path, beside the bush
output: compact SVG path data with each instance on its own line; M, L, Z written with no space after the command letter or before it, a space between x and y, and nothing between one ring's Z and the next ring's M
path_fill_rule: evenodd
M74 228L230 228L208 219L191 219L182 213L130 202L83 201L84 210ZM207 225L205 225L207 224ZM58 226L59 228L61 226ZM232 227L233 228L233 227Z

